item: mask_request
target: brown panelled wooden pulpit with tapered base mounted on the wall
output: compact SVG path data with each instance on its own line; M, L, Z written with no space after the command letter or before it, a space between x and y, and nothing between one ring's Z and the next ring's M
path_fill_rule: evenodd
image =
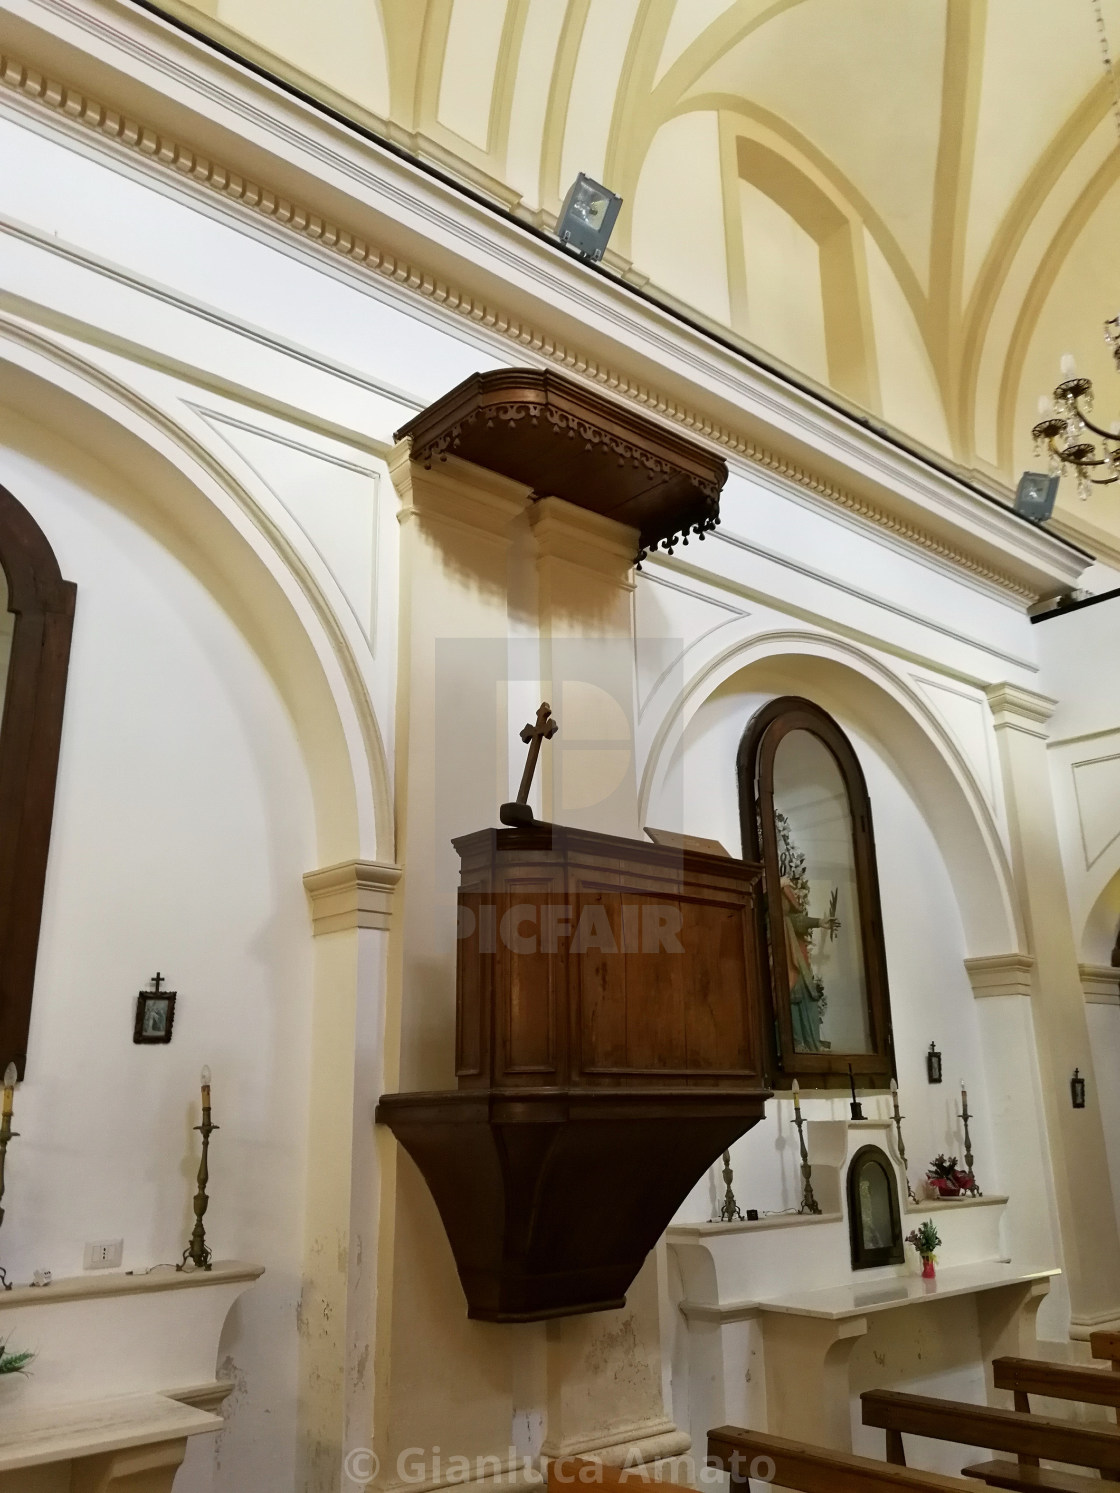
M621 1306L769 1097L762 867L541 823L454 845L458 1088L376 1118L432 1190L470 1317Z

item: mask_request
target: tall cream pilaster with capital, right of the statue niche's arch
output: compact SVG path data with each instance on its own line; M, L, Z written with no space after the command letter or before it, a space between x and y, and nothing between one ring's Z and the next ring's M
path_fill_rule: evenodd
M1084 1338L1093 1327L1120 1321L1120 1236L1047 763L1045 723L1054 702L1012 684L993 685L987 696L999 742L1015 884L1035 960L1030 1006L1071 1335ZM1071 1105L1075 1067L1087 1079L1084 1109Z

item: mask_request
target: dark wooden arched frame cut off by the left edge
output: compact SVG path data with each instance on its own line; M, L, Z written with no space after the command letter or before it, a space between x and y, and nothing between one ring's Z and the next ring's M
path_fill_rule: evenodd
M0 1072L27 1065L76 587L0 487L0 566L15 614L0 723Z

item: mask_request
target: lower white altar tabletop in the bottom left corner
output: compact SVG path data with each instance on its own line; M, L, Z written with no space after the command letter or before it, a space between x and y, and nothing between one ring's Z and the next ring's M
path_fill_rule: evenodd
M0 1472L18 1472L72 1457L151 1447L221 1430L221 1415L191 1409L163 1394L15 1411L0 1426Z

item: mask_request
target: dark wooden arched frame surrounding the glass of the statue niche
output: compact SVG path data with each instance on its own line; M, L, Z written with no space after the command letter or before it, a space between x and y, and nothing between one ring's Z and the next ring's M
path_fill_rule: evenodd
M856 888L863 944L863 982L868 994L869 1053L794 1053L793 1020L780 960L785 947L778 870L778 835L774 820L774 757L790 732L811 732L832 752L848 794L851 811ZM833 718L811 700L785 694L765 705L739 742L739 826L745 860L762 861L766 872L766 923L771 988L771 1085L845 1088L848 1067L863 1088L887 1088L895 1072L890 1029L887 959L883 944L880 881L875 867L875 836L863 769L851 742Z

